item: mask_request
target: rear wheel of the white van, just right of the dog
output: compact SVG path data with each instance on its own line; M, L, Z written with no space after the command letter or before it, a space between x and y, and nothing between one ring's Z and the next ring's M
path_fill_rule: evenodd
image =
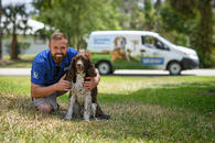
M111 66L108 62L99 62L97 68L100 75L111 74Z

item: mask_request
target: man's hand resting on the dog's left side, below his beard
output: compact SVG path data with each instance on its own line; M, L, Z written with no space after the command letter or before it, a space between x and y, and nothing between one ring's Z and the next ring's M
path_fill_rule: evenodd
M55 84L56 90L71 91L71 81L64 80L66 74Z

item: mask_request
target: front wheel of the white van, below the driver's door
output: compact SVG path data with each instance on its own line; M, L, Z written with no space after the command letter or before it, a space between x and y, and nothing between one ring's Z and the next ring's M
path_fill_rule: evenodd
M168 66L168 70L170 72L170 75L180 75L182 70L182 66L179 62L171 62Z

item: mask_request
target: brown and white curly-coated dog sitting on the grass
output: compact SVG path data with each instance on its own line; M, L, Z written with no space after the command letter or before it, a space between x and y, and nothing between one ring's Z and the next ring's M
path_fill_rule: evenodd
M72 120L73 114L84 117L85 121L89 121L93 117L96 119L97 87L92 91L83 88L86 77L96 77L96 70L93 62L87 54L78 54L71 62L66 79L72 81L72 90L69 94L69 105L65 119Z

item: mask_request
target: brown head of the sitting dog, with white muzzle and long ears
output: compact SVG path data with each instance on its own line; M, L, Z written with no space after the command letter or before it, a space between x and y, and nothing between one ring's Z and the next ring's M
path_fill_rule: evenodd
M76 74L85 74L86 77L95 77L96 70L88 54L77 54L71 62L67 79L73 79Z

